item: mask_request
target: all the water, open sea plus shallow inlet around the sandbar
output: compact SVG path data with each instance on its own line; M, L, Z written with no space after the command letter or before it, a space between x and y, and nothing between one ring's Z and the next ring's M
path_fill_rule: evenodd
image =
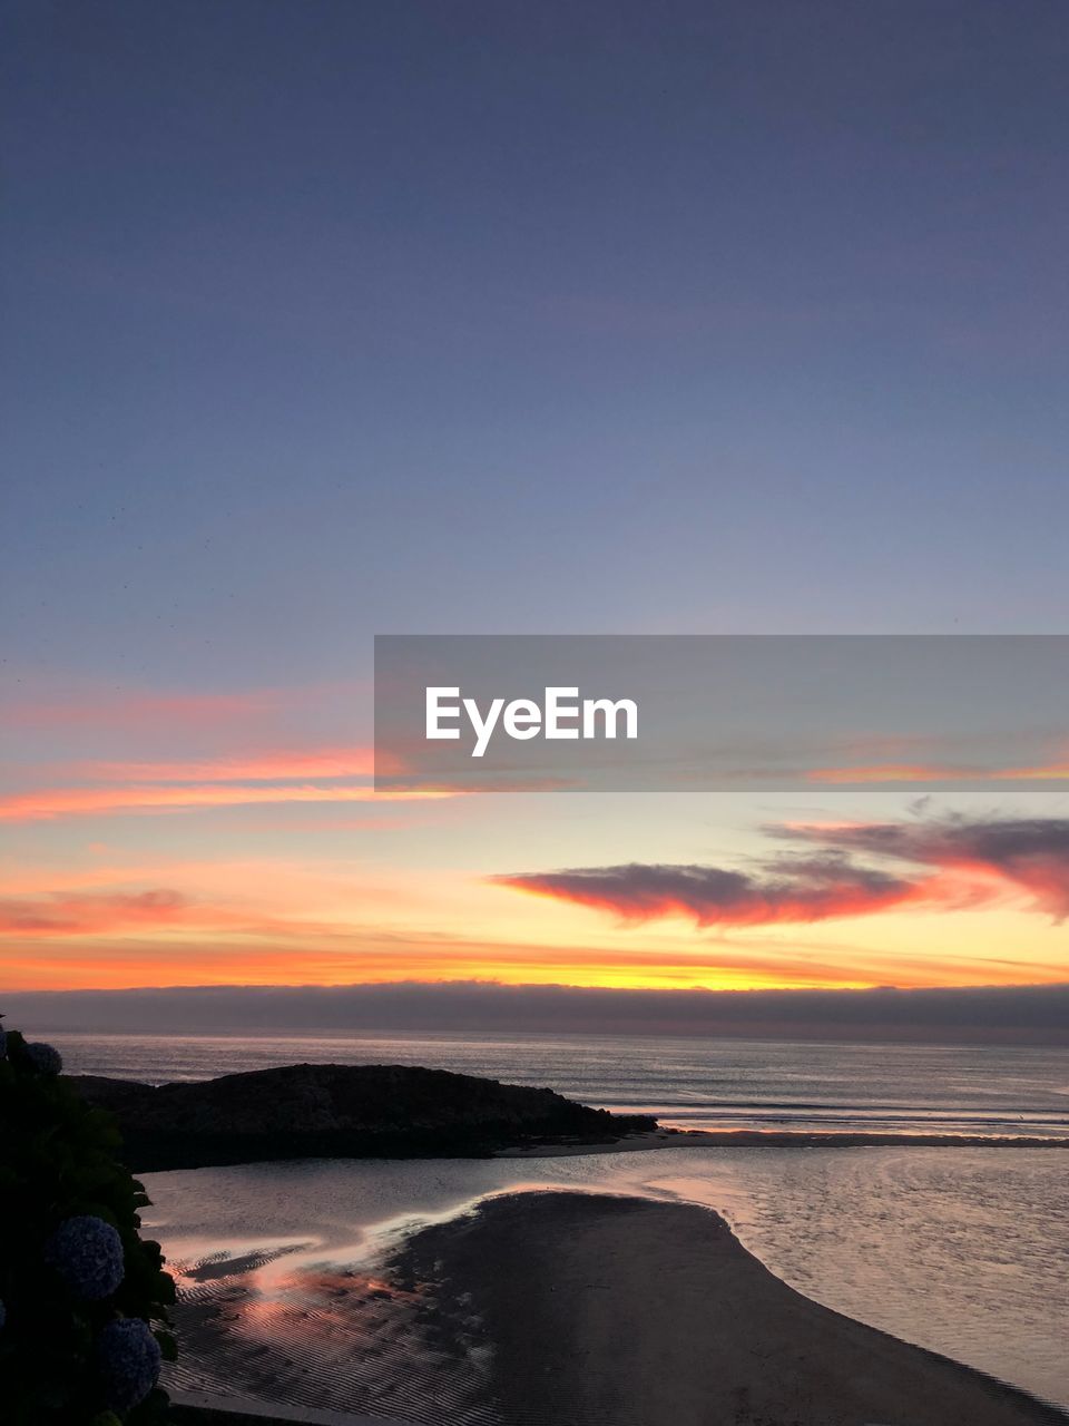
M382 1271L405 1235L530 1189L701 1204L791 1286L1069 1409L1069 1051L614 1035L34 1032L73 1072L148 1082L299 1061L550 1085L684 1128L968 1132L1066 1148L686 1147L570 1158L298 1161L151 1174L180 1282L172 1387L418 1426L492 1426ZM1066 1417L1069 1419L1069 1416ZM519 1419L505 1426L543 1426ZM592 1423L593 1426L593 1423Z

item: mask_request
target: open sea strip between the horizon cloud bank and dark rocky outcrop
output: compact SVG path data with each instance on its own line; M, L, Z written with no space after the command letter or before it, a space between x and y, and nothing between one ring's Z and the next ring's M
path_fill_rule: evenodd
M164 1082L299 1061L412 1064L549 1085L683 1128L1069 1139L1069 1050L623 1035L48 1034L76 1074Z

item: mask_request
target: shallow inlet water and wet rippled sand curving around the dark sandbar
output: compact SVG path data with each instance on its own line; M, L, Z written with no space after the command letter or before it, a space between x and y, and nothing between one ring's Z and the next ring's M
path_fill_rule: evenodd
M808 1296L1069 1405L1059 1149L314 1161L155 1174L147 1186L147 1225L182 1265L182 1385L489 1422L477 1352L438 1350L419 1292L399 1292L376 1265L402 1233L486 1194L573 1188L716 1208Z

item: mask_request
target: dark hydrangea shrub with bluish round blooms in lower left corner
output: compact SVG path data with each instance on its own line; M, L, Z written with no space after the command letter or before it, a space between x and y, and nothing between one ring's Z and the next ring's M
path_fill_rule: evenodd
M0 1030L0 1417L154 1426L174 1282L138 1233L148 1198L111 1115L61 1068L51 1045Z

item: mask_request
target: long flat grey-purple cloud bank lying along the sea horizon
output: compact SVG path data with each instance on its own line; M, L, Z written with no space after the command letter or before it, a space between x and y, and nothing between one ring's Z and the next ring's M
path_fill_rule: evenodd
M453 981L26 991L6 1024L137 1034L483 1031L1069 1044L1069 984L971 990L607 990ZM381 1051L376 1051L381 1054ZM428 1054L433 1054L429 1047Z

